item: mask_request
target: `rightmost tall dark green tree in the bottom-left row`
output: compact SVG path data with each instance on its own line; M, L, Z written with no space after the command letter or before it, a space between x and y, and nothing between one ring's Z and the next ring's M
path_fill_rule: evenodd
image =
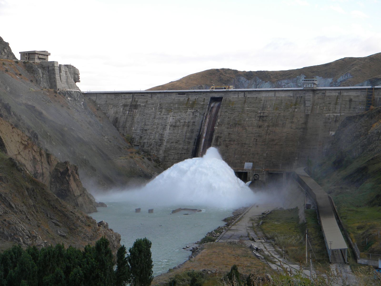
M127 260L130 264L131 286L149 286L154 279L151 245L147 238L138 238L129 249Z

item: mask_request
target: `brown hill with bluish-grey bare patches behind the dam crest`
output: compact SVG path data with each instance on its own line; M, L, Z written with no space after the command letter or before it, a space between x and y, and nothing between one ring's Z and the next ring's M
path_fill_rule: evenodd
M320 87L381 85L381 53L363 58L342 58L288 71L208 69L148 90L209 89L211 85L234 85L234 88L301 87L304 77L316 77Z

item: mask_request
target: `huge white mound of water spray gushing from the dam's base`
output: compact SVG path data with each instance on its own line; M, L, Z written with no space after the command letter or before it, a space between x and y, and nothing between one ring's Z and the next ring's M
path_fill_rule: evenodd
M235 176L214 147L209 148L203 157L174 164L139 190L115 193L112 197L152 206L235 208L255 202L253 192Z

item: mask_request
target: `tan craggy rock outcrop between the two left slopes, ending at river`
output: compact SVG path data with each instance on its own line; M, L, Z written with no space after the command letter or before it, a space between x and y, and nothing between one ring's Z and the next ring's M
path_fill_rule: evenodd
M25 165L28 172L44 183L58 198L86 213L96 212L96 202L83 188L78 168L68 161L59 162L38 147L21 130L0 118L3 152Z

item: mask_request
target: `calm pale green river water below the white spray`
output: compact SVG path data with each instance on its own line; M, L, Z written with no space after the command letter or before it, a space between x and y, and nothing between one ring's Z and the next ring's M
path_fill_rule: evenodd
M146 237L152 242L151 252L154 276L188 259L191 251L182 249L202 239L209 231L224 225L223 219L232 215L229 208L208 207L202 212L182 210L171 214L179 207L199 209L199 206L156 207L136 205L128 202L107 201L108 207L99 207L91 214L97 221L104 220L109 227L122 236L121 244L128 249L137 238ZM140 207L141 212L135 213Z

